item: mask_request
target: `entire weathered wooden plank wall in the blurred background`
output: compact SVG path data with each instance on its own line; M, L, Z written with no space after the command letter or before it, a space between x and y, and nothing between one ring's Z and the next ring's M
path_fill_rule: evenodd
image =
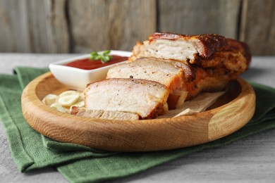
M153 32L216 33L275 55L273 0L0 0L0 52L131 51Z

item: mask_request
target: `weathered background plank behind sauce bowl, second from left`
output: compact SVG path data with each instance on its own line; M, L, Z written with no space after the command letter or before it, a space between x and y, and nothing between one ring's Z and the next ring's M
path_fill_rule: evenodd
M132 51L156 30L156 2L146 0L69 1L73 52Z

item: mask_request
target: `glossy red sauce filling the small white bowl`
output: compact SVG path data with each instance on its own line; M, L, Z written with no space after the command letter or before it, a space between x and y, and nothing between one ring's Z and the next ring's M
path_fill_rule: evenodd
M97 69L97 68L102 68L106 65L111 65L114 63L119 63L122 61L127 61L128 57L127 56L116 56L112 55L112 58L110 61L106 63L102 63L100 60L90 60L90 58L84 58L76 61L72 61L70 63L65 64L66 66L70 66L73 68L80 68L84 70L92 70L92 69Z

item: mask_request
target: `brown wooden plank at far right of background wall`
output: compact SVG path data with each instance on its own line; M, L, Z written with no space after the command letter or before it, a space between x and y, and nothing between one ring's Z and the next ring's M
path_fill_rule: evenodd
M240 40L253 55L275 54L275 1L244 0Z

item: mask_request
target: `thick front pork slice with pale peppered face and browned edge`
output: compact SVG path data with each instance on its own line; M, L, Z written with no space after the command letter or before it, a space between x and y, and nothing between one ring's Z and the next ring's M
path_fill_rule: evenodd
M142 119L155 118L168 110L169 89L149 80L114 78L87 84L87 110L135 113Z

